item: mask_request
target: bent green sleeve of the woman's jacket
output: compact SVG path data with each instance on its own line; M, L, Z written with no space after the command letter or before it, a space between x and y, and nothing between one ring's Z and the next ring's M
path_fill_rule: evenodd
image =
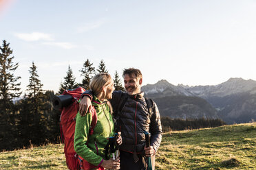
M92 114L85 114L84 117L76 114L76 129L74 133L74 150L76 153L95 166L100 166L103 158L94 153L87 147L87 138L89 134L89 127L92 122Z

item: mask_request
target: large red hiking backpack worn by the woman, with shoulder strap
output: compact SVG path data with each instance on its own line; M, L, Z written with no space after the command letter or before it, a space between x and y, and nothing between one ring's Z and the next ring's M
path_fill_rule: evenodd
M76 127L76 114L79 110L78 100L81 94L85 92L84 88L78 87L74 90L65 90L62 95L72 96L72 104L61 108L61 136L64 141L64 153L68 169L92 169L96 166L83 160L81 156L74 151L74 132ZM97 123L96 110L92 109L92 123L89 129L89 135L94 132L94 127Z

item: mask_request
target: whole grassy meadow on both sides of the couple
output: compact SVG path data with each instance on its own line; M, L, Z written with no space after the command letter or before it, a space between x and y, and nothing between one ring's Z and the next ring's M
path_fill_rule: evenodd
M1 152L0 169L67 169L63 145ZM156 169L256 169L256 123L164 133Z

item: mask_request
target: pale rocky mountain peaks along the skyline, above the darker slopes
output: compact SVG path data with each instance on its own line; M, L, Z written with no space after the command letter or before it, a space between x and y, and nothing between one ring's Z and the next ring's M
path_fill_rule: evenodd
M198 96L204 99L212 96L224 97L226 95L245 93L250 90L256 93L256 81L242 78L230 78L228 81L215 86L184 86L183 84L175 86L167 82L167 80L160 80L156 84L142 86L142 91L145 92L145 95L153 96L157 94L159 96L159 93L161 93L163 96L185 95Z

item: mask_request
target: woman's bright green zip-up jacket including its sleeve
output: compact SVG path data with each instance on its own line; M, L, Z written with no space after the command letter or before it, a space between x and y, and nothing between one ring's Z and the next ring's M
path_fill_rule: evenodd
M89 127L92 122L92 114L87 113L81 117L76 114L76 130L74 134L74 149L76 153L95 166L99 166L105 159L104 147L109 136L114 136L114 121L109 106L94 96L92 101L98 121L94 127L94 134L89 136Z

